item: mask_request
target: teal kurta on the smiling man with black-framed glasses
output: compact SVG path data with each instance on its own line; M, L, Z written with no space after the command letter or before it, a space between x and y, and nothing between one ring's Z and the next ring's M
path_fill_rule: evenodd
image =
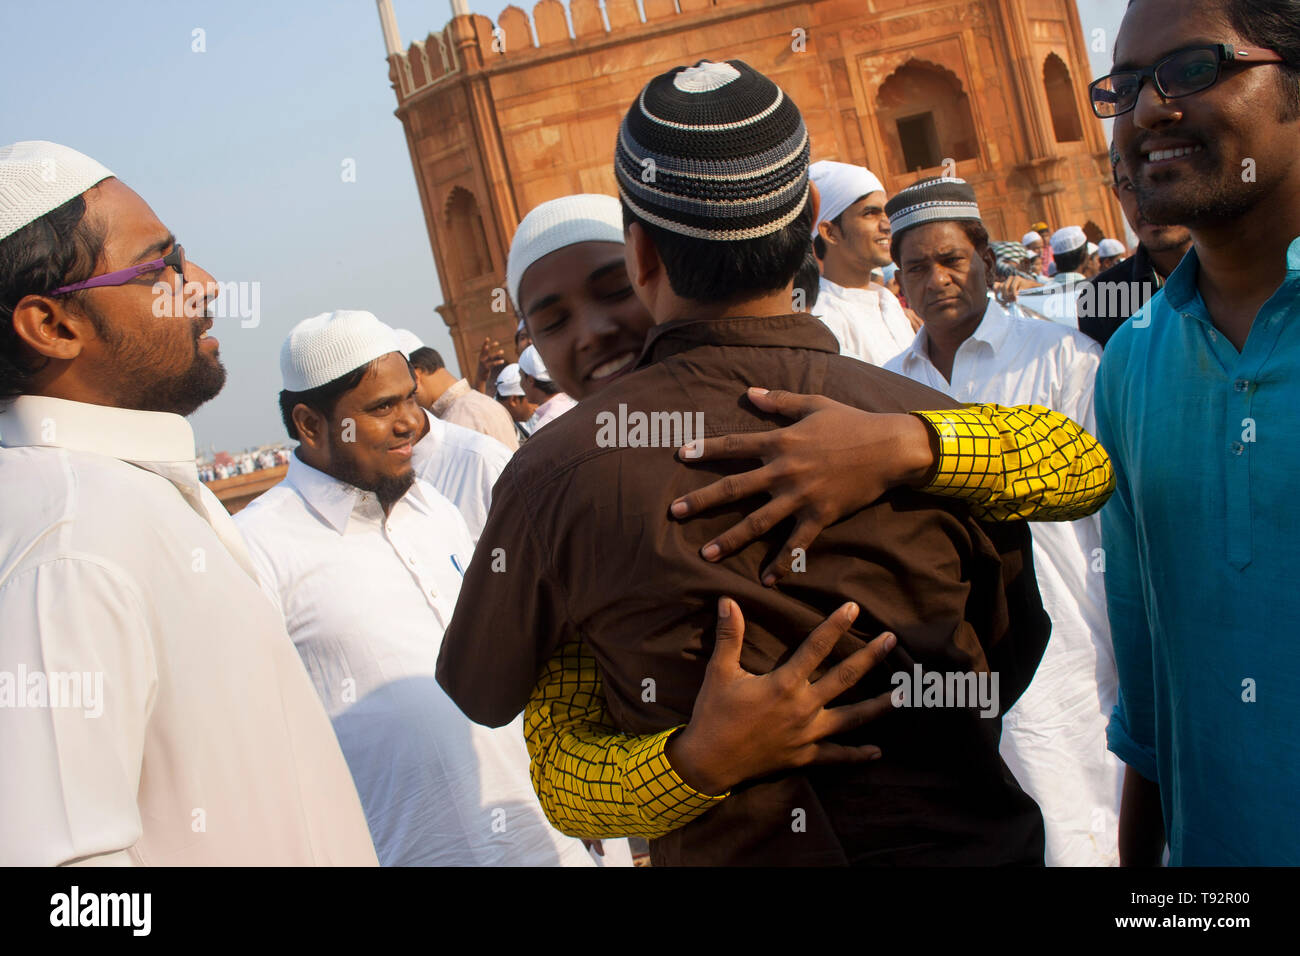
M1097 376L1109 747L1160 783L1173 865L1300 864L1300 238L1240 354L1199 268Z

